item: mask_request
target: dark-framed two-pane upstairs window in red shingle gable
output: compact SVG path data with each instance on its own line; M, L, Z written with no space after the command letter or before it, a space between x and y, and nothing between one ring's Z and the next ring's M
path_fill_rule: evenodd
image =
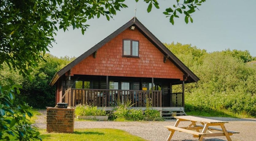
M123 56L139 57L139 41L123 40Z

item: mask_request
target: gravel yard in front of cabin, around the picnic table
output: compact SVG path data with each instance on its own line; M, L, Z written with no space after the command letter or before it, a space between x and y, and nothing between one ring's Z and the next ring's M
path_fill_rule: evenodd
M231 136L233 141L254 141L256 139L256 119L239 119L225 117L206 117L215 120L229 121L225 124L228 130L240 132ZM116 122L116 121L75 121L75 128L116 128L127 131L133 135L140 136L147 140L162 141L166 140L169 131L164 128L166 125L174 125L176 120L168 121L133 121L133 122ZM187 126L190 122L180 122L179 126ZM46 114L38 116L34 124L38 128L46 128ZM175 132L172 140L196 140L191 134ZM205 141L223 141L226 137L206 138Z

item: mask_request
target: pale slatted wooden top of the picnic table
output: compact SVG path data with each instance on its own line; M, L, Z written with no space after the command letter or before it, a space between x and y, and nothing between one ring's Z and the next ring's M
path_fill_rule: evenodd
M203 123L228 123L227 121L221 120L211 120L196 116L174 116L176 119L188 120L188 121L196 121L196 122L203 122Z

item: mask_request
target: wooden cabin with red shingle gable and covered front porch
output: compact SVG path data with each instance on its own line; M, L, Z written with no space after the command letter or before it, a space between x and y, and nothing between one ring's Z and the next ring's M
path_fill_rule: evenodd
M50 85L56 85L56 103L68 106L87 103L111 110L117 99L128 99L134 108L145 109L149 97L159 111L184 111L184 84L198 80L134 17L58 71ZM173 93L173 85L182 91Z

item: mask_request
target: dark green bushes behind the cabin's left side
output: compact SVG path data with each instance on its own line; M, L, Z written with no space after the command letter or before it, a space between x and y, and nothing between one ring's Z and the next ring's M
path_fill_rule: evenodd
M1 75L6 78L12 79L16 84L22 86L20 93L15 94L15 104L21 104L22 101L26 101L30 106L34 108L45 109L46 106L55 106L55 87L49 86L54 74L74 60L75 57L61 57L45 54L45 60L40 61L38 67L30 74L32 81L22 77L17 72L9 70L7 65L4 65ZM1 77L0 77L1 78ZM9 85L8 81L4 81L3 85Z

